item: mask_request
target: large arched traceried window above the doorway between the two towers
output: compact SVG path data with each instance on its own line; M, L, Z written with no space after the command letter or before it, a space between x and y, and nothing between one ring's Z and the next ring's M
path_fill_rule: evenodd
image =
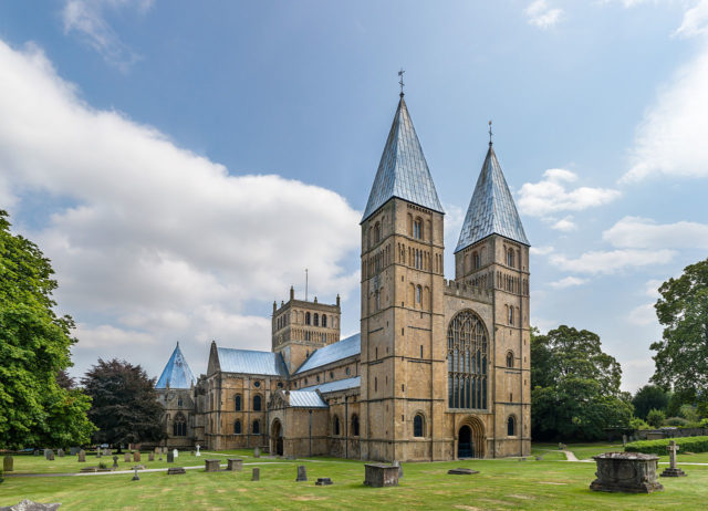
M447 393L449 408L487 408L489 340L472 311L458 313L447 328Z

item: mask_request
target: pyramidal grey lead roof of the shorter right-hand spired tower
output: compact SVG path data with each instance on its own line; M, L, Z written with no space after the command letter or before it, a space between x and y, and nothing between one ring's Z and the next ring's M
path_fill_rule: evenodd
M490 234L500 234L519 243L531 244L523 231L521 218L491 143L455 252Z

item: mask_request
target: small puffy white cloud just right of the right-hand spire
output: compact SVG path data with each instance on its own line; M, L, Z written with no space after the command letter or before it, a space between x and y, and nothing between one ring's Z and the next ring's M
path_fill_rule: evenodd
M579 187L566 189L577 175L562 168L543 173L539 182L525 182L519 190L519 209L532 217L544 217L561 211L582 211L605 205L618 198L620 191L607 188Z

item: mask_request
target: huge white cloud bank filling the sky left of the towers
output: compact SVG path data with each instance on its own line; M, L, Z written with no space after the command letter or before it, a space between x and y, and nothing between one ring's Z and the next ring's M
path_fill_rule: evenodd
M23 233L52 260L58 302L79 322L80 367L132 353L158 373L177 340L187 355L210 338L269 348L270 301L305 268L323 302L356 289L344 260L361 216L337 194L230 175L150 126L91 108L37 48L0 41L0 189L18 198L15 226L25 194L61 205Z

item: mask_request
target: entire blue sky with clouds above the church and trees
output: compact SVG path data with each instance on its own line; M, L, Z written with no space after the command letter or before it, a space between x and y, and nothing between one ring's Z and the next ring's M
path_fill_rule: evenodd
M446 277L493 121L531 324L635 392L657 288L708 251L708 0L0 2L0 209L98 357L270 350L290 285L358 331L362 211L405 93Z

